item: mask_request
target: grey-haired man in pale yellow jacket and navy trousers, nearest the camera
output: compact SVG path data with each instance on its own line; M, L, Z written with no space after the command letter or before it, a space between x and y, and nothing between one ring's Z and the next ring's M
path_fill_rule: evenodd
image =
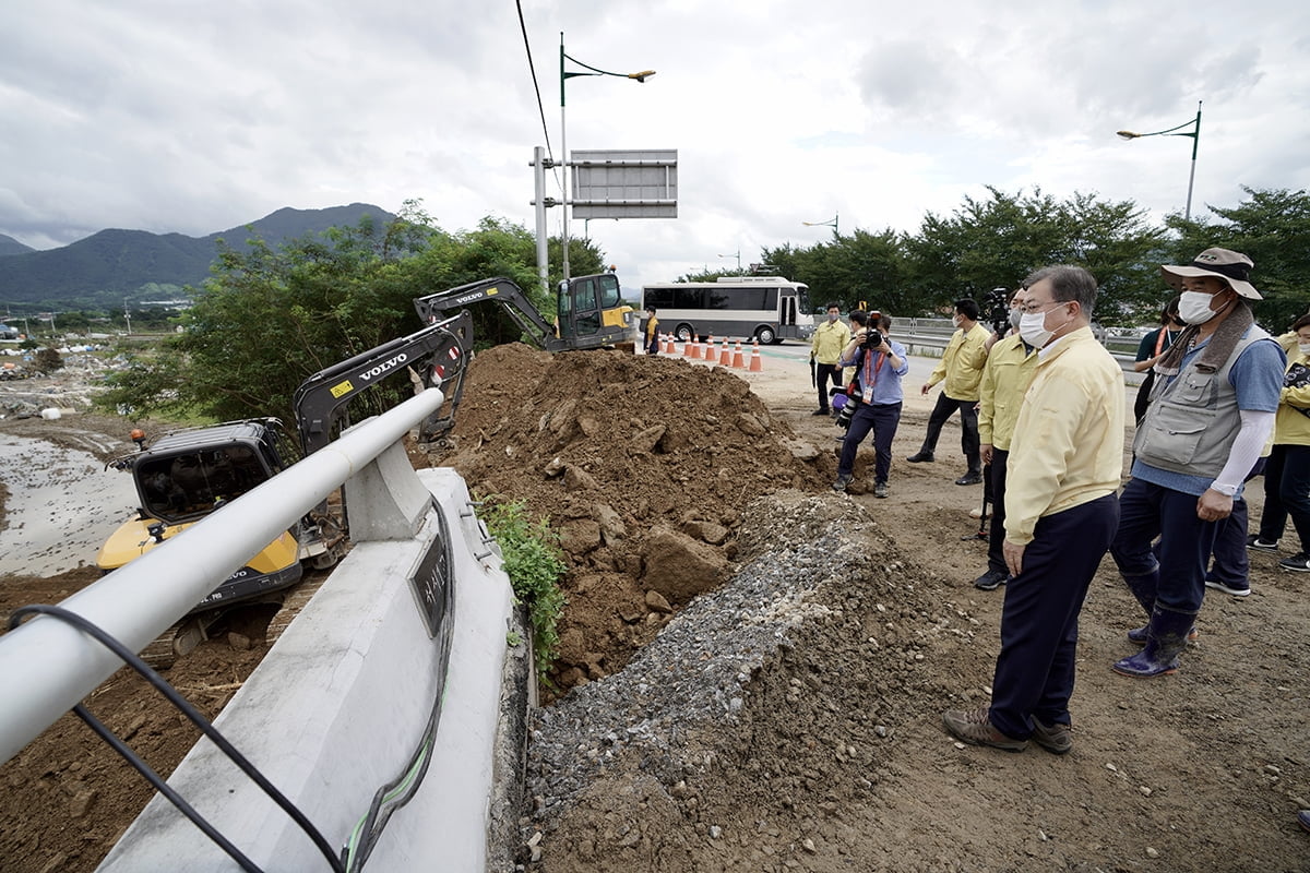
M992 705L947 709L952 736L1023 751L1073 747L1078 613L1119 524L1124 373L1091 335L1096 280L1081 267L1045 267L1023 283L1019 335L1038 352L1010 442L1005 561Z

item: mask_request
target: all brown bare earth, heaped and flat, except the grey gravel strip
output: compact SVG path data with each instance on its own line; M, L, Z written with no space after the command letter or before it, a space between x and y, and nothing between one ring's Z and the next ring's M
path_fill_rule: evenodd
M941 712L985 702L1003 589L971 585L985 564L968 514L981 495L952 483L958 429L947 427L935 465L905 463L931 403L910 386L892 497L833 497L836 429L810 416L807 373L766 360L743 381L683 360L493 349L474 365L455 449L417 455L453 463L481 493L525 499L563 530L571 602L550 678L566 695L621 671L770 525L796 527L796 495L840 501L872 552L867 572L816 584L814 618L743 677L731 717L686 726L697 766L675 779L618 754L575 802L527 809L524 832L540 831L528 868L1310 869L1310 835L1294 821L1310 806L1310 579L1254 554L1252 596L1208 598L1183 670L1136 681L1108 669L1132 650L1123 632L1140 611L1107 559L1083 610L1073 753L962 747ZM21 436L47 425L0 423ZM862 453L857 486L866 467ZM772 492L776 510L747 512ZM0 613L93 579L0 579ZM261 654L261 620L234 628L252 648L221 636L169 678L216 712ZM122 675L89 704L164 772L194 739ZM71 717L0 780L5 870L93 869L149 794Z

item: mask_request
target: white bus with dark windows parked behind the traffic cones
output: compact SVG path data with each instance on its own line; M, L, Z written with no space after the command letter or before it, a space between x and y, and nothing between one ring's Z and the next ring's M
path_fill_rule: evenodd
M761 343L810 339L810 288L781 276L723 276L642 288L642 309L655 308L660 327L683 342L694 336L741 336Z

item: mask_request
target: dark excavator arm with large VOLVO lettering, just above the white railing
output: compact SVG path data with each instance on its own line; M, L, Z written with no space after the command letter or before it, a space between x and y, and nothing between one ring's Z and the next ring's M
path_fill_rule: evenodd
M328 445L351 398L407 368L419 370L424 387L445 391L449 414L438 411L419 427L419 440L440 437L455 424L472 351L473 317L460 313L314 373L293 398L301 449L308 455Z

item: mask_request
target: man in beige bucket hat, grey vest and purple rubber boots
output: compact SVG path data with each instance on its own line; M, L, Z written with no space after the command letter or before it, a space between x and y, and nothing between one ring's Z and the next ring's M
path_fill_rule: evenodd
M1110 546L1149 616L1146 627L1128 632L1142 650L1114 665L1124 675L1178 669L1205 596L1218 522L1233 512L1273 427L1285 359L1251 314L1248 301L1260 300L1250 283L1254 266L1241 253L1207 249L1191 264L1161 267L1182 292L1187 329L1154 366Z

